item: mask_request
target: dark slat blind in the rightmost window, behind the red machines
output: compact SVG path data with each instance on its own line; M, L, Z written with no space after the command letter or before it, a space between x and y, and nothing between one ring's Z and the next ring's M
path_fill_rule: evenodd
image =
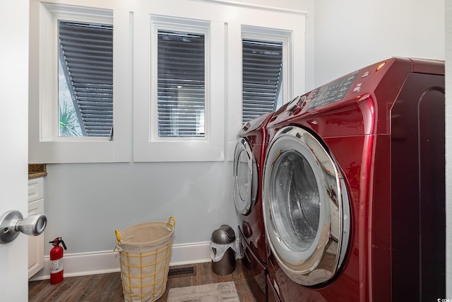
M275 110L281 85L283 43L242 40L242 122Z

